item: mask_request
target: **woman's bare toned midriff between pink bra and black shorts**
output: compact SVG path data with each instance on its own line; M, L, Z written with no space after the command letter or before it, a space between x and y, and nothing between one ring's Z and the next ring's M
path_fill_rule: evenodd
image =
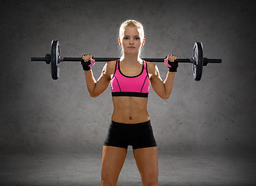
M114 122L135 124L149 121L148 98L118 96L112 99L114 104L112 120Z

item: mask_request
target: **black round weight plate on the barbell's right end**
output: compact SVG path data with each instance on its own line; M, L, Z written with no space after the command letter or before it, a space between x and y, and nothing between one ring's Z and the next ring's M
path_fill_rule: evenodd
M195 81L200 81L202 77L203 57L202 57L202 43L195 42L193 48L193 58L195 64L192 65L193 76Z

